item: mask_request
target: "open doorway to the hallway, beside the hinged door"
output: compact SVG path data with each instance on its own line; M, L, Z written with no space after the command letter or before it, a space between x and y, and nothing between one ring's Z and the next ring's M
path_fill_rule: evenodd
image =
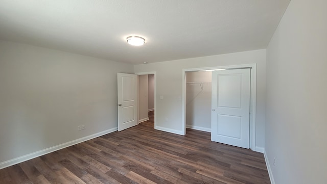
M152 123L155 127L155 72L138 75L138 123Z

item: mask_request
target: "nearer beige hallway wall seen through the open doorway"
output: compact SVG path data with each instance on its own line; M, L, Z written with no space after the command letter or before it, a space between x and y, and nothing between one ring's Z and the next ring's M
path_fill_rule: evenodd
M148 75L138 75L138 122L148 119Z

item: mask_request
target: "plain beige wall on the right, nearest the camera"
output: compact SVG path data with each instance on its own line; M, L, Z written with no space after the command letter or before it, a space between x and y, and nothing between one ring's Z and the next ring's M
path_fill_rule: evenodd
M267 48L265 150L278 184L327 181L326 7L291 1Z

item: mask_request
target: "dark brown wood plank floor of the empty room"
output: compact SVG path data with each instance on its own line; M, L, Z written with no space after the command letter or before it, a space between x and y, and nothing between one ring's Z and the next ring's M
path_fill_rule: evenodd
M270 183L262 153L150 120L0 170L0 183Z

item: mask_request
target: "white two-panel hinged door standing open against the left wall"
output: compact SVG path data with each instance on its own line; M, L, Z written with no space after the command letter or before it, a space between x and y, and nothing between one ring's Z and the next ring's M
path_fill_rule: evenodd
M118 73L118 131L137 125L137 75Z

